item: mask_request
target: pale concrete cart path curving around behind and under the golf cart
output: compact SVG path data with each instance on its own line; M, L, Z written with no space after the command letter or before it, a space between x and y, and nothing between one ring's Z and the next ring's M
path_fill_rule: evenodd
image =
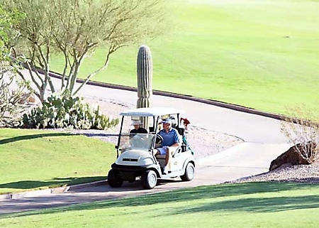
M55 83L59 82L55 80ZM86 85L82 95L134 106L137 95L118 89ZM154 96L153 107L184 109L194 126L240 137L245 141L214 156L196 161L196 178L188 183L164 181L153 190L142 190L138 183L125 183L123 188L108 185L69 190L62 193L14 195L12 200L0 200L0 215L25 210L105 200L113 197L145 195L160 191L223 183L249 175L267 172L270 162L289 148L280 132L280 122L254 114L235 112L185 99ZM1 199L1 197L0 197Z

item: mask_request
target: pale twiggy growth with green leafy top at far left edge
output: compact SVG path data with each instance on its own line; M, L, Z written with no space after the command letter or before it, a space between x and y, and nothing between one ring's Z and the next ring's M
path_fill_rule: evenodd
M26 108L25 92L28 92L28 83L16 80L16 65L11 63L9 48L9 34L17 38L18 33L12 31L18 23L21 13L13 11L7 13L0 7L0 126L17 126L15 114L20 114ZM23 99L24 97L24 99Z

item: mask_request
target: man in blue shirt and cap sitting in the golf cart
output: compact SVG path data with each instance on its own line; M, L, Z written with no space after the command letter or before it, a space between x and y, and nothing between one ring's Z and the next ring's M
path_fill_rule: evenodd
M163 173L167 174L172 153L176 151L179 146L181 146L181 141L179 139L179 132L177 129L172 128L172 119L164 119L162 124L163 129L158 133L163 138L162 147L155 150L155 155L165 155L165 166Z

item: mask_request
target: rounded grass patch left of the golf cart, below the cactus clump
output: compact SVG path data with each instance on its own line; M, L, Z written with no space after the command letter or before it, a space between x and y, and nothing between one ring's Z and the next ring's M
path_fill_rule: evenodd
M59 131L0 129L0 194L105 180L114 146Z

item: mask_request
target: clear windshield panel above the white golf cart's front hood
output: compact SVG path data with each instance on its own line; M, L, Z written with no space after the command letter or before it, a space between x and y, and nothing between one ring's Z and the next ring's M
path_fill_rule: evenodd
M122 151L149 151L155 134L123 134L120 136L118 148Z

